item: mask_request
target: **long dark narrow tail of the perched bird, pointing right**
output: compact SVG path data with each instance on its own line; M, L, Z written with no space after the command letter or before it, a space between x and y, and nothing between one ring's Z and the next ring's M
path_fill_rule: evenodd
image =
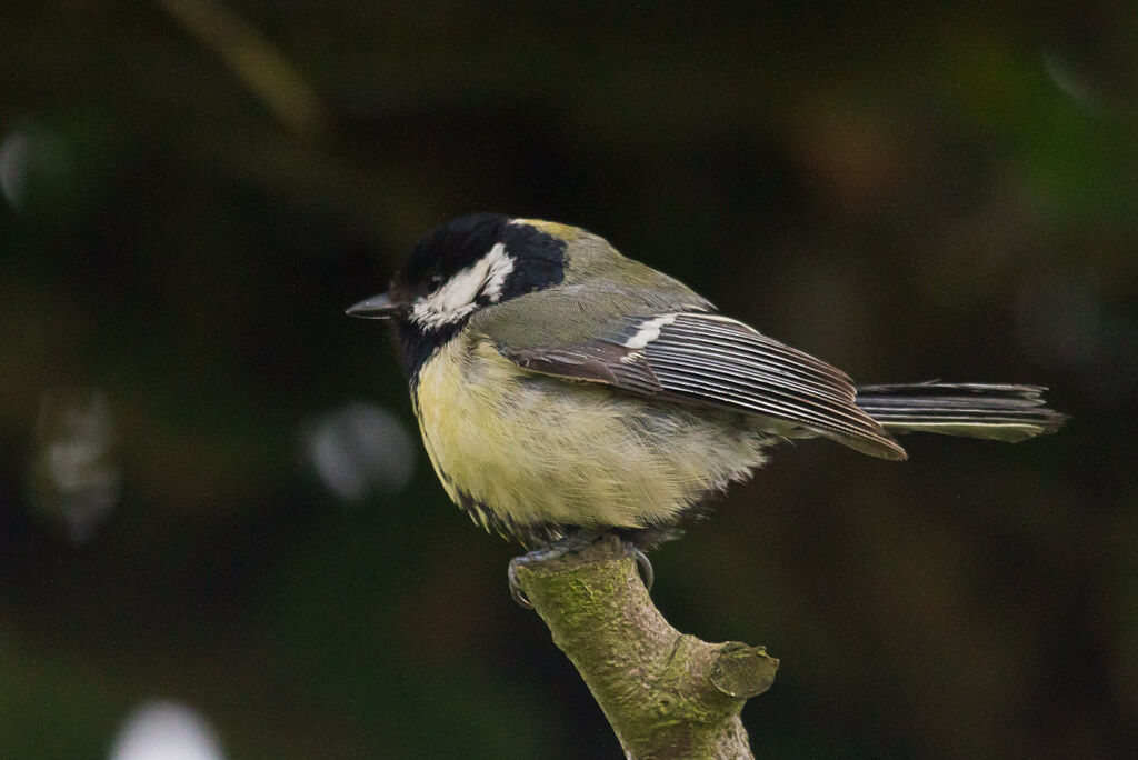
M1055 432L1067 419L1047 408L1042 386L921 382L859 386L857 405L891 433L1019 441Z

